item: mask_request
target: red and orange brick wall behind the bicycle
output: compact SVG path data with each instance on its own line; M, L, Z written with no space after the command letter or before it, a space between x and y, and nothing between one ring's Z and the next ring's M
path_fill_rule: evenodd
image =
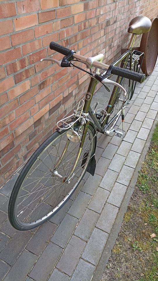
M153 18L158 1L0 0L0 186L84 96L88 75L40 59L51 41L110 63L126 47L129 21ZM123 42L123 44L122 44Z

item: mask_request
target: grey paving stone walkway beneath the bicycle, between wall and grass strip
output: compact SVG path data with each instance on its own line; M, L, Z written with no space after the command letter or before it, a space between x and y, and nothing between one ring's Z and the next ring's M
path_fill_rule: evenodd
M65 206L38 229L20 232L8 222L18 173L0 189L0 280L92 280L157 115L157 92L158 64L126 108L124 140L98 134L94 177L86 173ZM101 87L93 101L105 104L106 95Z

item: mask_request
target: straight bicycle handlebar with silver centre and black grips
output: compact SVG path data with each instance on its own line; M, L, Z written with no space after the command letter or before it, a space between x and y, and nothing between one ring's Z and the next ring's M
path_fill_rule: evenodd
M128 69L124 69L124 68L117 67L117 66L109 66L107 64L103 64L100 61L93 60L93 58L91 58L91 57L87 58L85 56L76 54L76 52L74 52L73 50L70 50L66 47L62 47L53 41L50 43L49 47L51 50L59 52L60 54L63 54L64 56L69 56L69 54L71 52L72 57L76 58L79 62L86 64L87 68L94 66L99 69L108 70L108 68L110 67L111 71L109 73L109 76L112 73L112 74L115 74L115 75L118 75L118 76L121 76L124 78L128 78L128 79L137 81L139 83L142 83L146 79L145 74L141 74L141 73L138 73L135 71L130 71Z

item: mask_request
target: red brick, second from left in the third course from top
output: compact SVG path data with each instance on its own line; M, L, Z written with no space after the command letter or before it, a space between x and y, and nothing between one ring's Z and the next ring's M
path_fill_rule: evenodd
M12 46L27 42L32 39L34 39L33 29L21 31L21 32L11 35Z

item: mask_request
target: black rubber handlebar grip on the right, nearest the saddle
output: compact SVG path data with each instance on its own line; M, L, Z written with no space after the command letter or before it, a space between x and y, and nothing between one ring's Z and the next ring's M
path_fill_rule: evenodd
M145 74L141 74L141 73L138 73L135 71L130 71L128 69L124 69L124 68L117 67L117 66L112 67L111 73L115 74L117 76L121 76L124 78L128 78L128 79L137 81L139 83L142 83L146 79Z

